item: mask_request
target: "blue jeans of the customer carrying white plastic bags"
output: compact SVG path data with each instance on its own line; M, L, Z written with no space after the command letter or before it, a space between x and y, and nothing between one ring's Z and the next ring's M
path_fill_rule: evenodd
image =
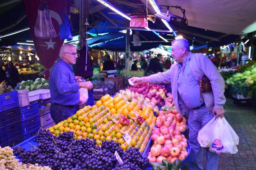
M198 132L206 125L214 115L212 110L208 111L207 107L201 107L200 109L190 109L188 115L188 127L189 138L188 141L191 146L189 169L190 170L203 170L203 148L197 141ZM206 150L206 170L218 169L218 154L210 152L208 148Z

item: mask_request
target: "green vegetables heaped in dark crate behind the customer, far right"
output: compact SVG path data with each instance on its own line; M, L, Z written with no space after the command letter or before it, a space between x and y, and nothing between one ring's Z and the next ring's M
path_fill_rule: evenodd
M256 68L251 71L247 70L243 73L236 73L226 80L226 84L231 86L230 93L233 96L236 94L250 97L254 82L256 82Z

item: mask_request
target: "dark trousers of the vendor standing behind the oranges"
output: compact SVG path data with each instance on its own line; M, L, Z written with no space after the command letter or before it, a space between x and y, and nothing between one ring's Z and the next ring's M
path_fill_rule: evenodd
M68 119L68 117L74 115L77 111L77 106L66 107L58 104L51 104L50 113L53 121L57 124L60 121Z

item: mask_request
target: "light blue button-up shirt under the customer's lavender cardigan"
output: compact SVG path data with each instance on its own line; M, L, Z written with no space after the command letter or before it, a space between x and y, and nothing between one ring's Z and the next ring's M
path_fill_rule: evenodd
M188 108L194 108L201 106L204 101L200 102L200 87L198 82L191 71L190 57L188 56L183 62L184 66L182 69L182 63L178 63L180 67L180 73L178 76L178 92L183 102Z

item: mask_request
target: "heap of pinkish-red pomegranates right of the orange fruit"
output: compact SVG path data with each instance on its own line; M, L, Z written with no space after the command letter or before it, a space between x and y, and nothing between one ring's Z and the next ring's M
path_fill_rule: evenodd
M176 159L184 160L188 156L187 139L182 135L186 131L186 119L174 107L170 93L165 100L165 106L156 119L156 128L152 131L154 145L148 153L149 162L162 163L165 159L174 163Z

